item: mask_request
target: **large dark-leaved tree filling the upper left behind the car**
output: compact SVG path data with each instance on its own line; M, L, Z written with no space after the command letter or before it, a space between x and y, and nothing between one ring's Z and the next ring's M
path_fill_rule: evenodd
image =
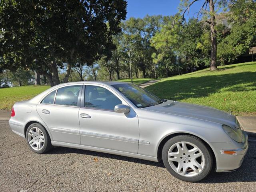
M60 83L58 69L67 64L67 82L77 61L92 64L113 48L112 36L125 16L124 0L3 0L0 68L30 68L54 86Z

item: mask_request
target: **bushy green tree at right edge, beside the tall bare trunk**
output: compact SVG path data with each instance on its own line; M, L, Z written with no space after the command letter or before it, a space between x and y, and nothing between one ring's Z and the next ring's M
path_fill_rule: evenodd
M229 4L230 30L218 44L218 60L222 65L231 64L249 48L256 46L256 3L237 0Z

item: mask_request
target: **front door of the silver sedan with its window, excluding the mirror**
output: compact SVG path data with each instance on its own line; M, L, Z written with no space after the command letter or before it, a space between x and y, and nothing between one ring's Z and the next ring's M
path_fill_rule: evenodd
M114 112L117 104L126 104L113 90L86 85L79 110L81 144L110 150L138 153L139 125L134 110Z

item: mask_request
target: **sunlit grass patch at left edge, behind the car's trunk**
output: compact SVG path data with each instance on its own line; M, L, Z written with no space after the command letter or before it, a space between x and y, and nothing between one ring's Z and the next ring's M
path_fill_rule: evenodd
M15 102L29 100L50 86L22 86L0 89L0 109L10 109Z

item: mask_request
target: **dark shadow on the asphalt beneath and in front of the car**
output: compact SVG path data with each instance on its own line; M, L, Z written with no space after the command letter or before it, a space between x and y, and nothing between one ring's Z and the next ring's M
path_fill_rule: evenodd
M146 164L149 166L156 166L160 168L164 168L164 164L162 161L160 162L152 162L148 160L141 160L137 158L119 156L114 154L107 154L102 152L94 152L88 150L80 150L74 148L65 148L65 147L56 147L52 149L48 154L69 154L69 153L77 153L84 154L89 156L96 156L101 158L111 158L115 160L134 162L139 164ZM256 142L249 144L249 149L244 157L244 162L242 166L234 171L234 172L221 172L216 173L212 171L209 176L200 181L199 183L229 183L229 182L256 182Z

